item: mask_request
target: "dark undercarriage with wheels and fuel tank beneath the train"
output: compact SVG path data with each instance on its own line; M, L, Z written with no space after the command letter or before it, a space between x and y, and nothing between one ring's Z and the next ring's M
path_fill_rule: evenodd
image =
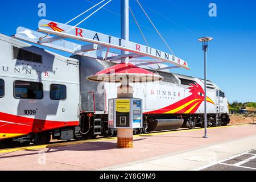
M228 114L208 114L207 127L228 125ZM134 134L150 133L154 131L176 130L180 128L194 129L204 128L204 114L155 114L143 115L143 128L134 130ZM23 137L11 138L0 141L0 148L48 144L53 140L85 140L94 139L97 136L113 137L117 130L109 129L108 114L82 113L80 126L66 127L42 133L30 133Z

